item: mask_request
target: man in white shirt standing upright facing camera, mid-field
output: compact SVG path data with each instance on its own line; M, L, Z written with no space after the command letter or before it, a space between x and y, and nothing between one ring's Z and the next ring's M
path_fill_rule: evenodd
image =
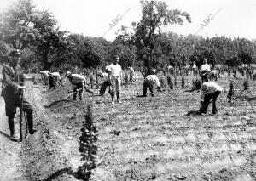
M111 82L111 104L114 105L114 93L116 93L116 98L118 103L122 103L120 101L120 87L122 80L122 68L119 65L119 55L114 56L113 64L108 66L108 78Z

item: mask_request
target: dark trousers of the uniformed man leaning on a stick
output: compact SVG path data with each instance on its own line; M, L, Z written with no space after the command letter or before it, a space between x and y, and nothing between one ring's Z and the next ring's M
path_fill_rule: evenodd
M10 134L15 134L15 123L14 123L14 117L16 114L16 108L21 106L21 99L19 98L4 98L5 102L5 113L6 116L8 116L8 123L9 123L9 130ZM28 130L29 133L34 133L33 129L33 107L32 105L26 101L26 99L23 99L23 111L26 112L26 118L28 123Z

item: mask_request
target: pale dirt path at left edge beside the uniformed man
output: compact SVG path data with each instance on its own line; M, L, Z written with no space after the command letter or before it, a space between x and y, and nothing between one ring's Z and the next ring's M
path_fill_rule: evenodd
M1 67L0 67L0 70ZM2 74L0 76L2 79ZM0 82L0 92L2 90L2 82ZM1 180L26 180L20 171L21 144L9 140L9 127L7 117L5 116L4 100L0 97L0 179ZM15 120L16 132L18 130L17 120Z

